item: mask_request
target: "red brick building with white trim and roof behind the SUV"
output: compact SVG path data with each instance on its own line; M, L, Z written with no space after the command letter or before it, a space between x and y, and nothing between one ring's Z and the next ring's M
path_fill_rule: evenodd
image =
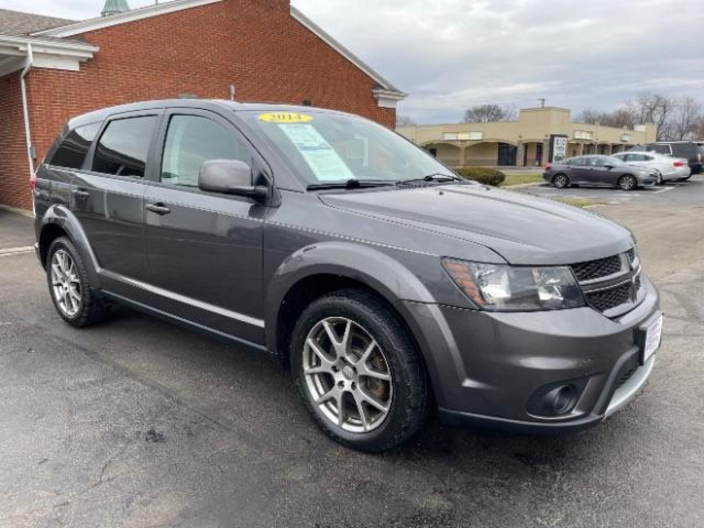
M130 101L234 87L241 101L309 100L395 125L405 94L289 0L126 6L108 0L78 22L0 10L0 203L32 207L30 172L68 118Z

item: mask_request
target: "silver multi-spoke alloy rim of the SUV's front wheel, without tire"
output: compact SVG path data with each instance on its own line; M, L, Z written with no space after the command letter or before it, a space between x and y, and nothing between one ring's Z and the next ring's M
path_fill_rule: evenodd
M389 415L389 363L372 335L353 320L326 318L310 329L303 375L322 415L346 432L370 432Z

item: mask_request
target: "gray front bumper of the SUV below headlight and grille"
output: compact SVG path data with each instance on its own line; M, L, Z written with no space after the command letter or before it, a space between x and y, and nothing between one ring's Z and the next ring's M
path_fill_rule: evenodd
M646 383L655 356L640 365L641 329L660 315L658 293L643 276L646 295L617 319L592 308L488 313L405 303L425 356L446 425L513 431L567 431L604 420ZM541 387L582 386L566 415L529 412Z

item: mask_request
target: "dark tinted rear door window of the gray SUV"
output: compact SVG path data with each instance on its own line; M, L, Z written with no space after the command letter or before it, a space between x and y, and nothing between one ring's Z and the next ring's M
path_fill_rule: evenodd
M116 176L143 178L156 116L110 122L93 158L93 170Z

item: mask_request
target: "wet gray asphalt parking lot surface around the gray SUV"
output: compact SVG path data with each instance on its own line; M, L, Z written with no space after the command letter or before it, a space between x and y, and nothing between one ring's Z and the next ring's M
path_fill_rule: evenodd
M68 327L34 254L0 255L0 527L703 526L704 177L660 190L567 191L634 230L662 294L626 410L558 437L432 423L384 455L329 441L263 356L126 309ZM0 214L0 250L31 241Z

